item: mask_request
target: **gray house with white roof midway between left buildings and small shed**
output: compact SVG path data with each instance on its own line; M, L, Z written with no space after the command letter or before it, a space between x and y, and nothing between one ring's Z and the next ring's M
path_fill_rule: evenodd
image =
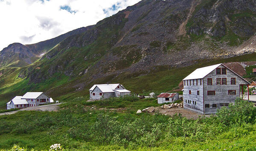
M131 95L131 91L124 88L121 84L96 84L90 88L90 99L100 100L109 97L120 97Z

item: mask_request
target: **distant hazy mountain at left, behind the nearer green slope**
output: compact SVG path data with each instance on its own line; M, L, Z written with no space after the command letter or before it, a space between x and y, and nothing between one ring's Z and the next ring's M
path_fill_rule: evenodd
M3 50L0 51L0 68L27 66L35 62L35 60L39 59L42 54L47 53L47 51L66 37L80 34L92 27L93 26L78 28L50 40L45 40L31 45L22 45L21 43L10 44L8 47L3 48Z

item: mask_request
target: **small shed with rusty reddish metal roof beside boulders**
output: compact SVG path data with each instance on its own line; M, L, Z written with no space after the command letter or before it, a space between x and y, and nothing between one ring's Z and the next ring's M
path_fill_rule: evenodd
M179 99L178 93L161 93L159 96L157 96L157 103L163 104L163 103L173 103L174 101Z

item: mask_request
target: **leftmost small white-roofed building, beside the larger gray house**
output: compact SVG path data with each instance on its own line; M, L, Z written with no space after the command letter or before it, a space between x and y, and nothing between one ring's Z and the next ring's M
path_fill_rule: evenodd
M16 96L11 101L6 103L7 110L12 108L26 108L29 106L28 102L25 99L21 99L22 96Z

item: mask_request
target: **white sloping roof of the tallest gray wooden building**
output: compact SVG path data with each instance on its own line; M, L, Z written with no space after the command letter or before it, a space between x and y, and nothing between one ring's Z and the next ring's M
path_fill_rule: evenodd
M195 71L193 71L187 77L185 77L183 80L202 79L207 74L211 73L215 68L218 68L218 66L221 66L221 64L222 63L217 64L217 65L203 67L203 68L197 68Z

